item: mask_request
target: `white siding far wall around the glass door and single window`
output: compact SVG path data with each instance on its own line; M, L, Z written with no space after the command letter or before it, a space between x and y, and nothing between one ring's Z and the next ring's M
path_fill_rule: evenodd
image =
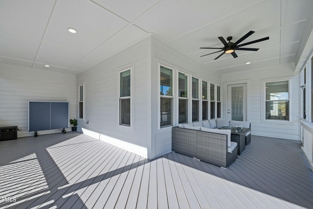
M251 64L252 67L252 64ZM263 80L291 76L291 122L265 121L262 112ZM258 136L277 137L299 140L299 74L291 70L291 66L273 66L263 69L246 70L222 75L225 83L247 82L247 120L251 121L251 134ZM227 90L224 91L226 94Z

